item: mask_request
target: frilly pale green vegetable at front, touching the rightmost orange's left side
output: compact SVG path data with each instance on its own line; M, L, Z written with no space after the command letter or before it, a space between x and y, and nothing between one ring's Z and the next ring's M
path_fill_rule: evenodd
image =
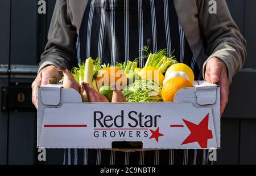
M158 102L163 101L161 86L152 80L135 80L133 84L123 88L127 102Z

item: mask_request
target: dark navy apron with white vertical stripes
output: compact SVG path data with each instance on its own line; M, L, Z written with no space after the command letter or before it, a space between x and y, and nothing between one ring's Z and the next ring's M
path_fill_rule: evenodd
M173 0L89 0L77 37L77 59L102 58L102 63L139 59L143 46L152 52L167 49L168 56L191 66L200 79L199 67L177 18ZM117 152L102 149L65 149L63 164L209 164L207 150L170 149Z

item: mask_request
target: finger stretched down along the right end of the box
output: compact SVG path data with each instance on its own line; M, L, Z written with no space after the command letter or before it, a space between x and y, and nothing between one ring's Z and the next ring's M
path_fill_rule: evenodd
M229 81L228 81L228 76L226 75L225 72L221 75L221 80L219 84L220 84L220 98L221 98L220 113L222 116L226 108L226 104L228 104L228 98L229 98Z

